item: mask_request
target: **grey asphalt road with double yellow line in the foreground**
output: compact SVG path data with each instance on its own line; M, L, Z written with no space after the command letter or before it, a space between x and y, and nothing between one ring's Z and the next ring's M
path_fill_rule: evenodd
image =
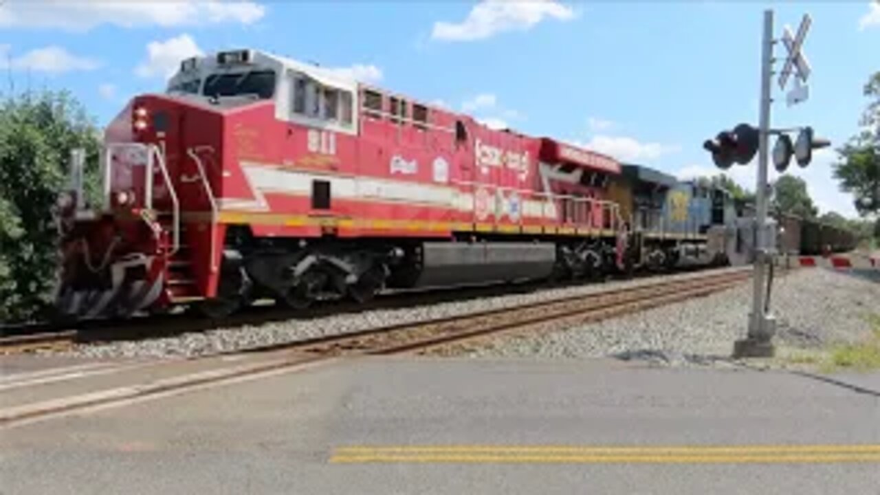
M880 493L880 374L365 359L0 430L0 492Z

